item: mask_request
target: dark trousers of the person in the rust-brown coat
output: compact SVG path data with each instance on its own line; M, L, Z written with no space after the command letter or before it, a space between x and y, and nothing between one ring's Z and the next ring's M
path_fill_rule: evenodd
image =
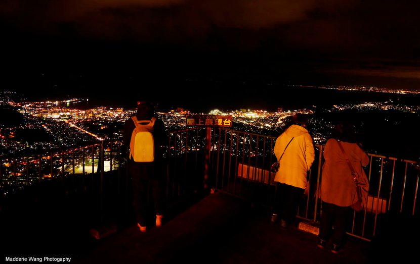
M351 213L349 206L338 206L322 202L322 215L319 226L319 238L328 240L331 237L334 245L343 246L346 239L347 221ZM332 230L334 227L334 230Z

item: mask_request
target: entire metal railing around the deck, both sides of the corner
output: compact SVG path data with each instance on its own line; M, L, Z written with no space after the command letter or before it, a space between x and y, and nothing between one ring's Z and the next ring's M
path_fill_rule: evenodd
M166 199L219 190L268 208L276 185L270 166L275 161L275 138L226 128L188 128L170 133L164 151L167 161ZM322 145L309 172L310 192L302 199L298 218L319 223L322 201ZM414 161L369 154L365 172L370 189L368 206L355 212L348 233L371 240L379 223L390 213L419 217L417 202L419 164ZM101 141L72 149L56 149L0 160L2 200L30 186L59 182L65 197L90 194L91 208L101 222L118 215L128 218L131 187L127 151L119 140ZM123 209L121 209L123 208ZM115 214L118 210L119 213ZM123 210L123 212L120 212ZM111 219L112 220L112 219Z

